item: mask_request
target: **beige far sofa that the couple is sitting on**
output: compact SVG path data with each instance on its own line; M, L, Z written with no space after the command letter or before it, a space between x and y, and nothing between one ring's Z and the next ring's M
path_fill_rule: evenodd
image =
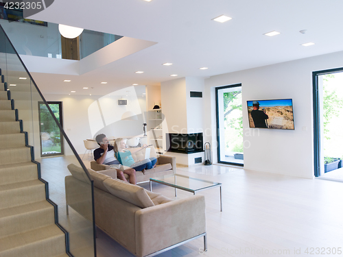
M157 155L154 147L149 147L150 157L157 158L156 167L153 169L145 170L143 174L141 171L136 172L137 183L147 182L150 178L162 177L164 175L169 175L176 173L176 158L171 156ZM132 148L134 149L134 148ZM132 154L134 160L143 160L145 156L145 149L137 151L137 153ZM94 171L104 171L110 169L111 167L106 164L97 164L97 162L91 162L91 169ZM128 167L121 167L121 169L129 169ZM124 174L128 178L127 174Z

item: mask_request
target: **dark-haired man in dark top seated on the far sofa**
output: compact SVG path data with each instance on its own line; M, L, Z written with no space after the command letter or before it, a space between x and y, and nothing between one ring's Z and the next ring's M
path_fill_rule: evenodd
M94 150L94 160L97 164L106 164L106 165L113 165L113 164L120 164L117 158L115 158L115 151L113 151L113 146L109 145L109 141L106 138L105 134L99 134L95 137L99 148ZM117 178L119 180L126 180L123 173L129 175L129 181L131 184L136 184L136 171L134 169L126 169L125 171L121 171L120 169L117 170Z

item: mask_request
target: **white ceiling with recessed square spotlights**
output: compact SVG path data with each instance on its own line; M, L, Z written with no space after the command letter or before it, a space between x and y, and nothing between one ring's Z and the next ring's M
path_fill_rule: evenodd
M178 77L209 77L342 51L342 10L342 0L58 0L30 18L157 42L73 76L76 90L91 82L105 94L133 83L156 85ZM233 19L211 20L221 14ZM307 33L300 34L301 29ZM281 34L263 36L273 30ZM301 46L305 42L316 45ZM173 65L161 65L164 62ZM202 66L209 69L200 70ZM53 83L43 73L34 73L34 79L38 86L50 85L45 93L56 93L54 82L65 75L54 75ZM98 84L104 80L106 89ZM61 88L61 93L69 89Z

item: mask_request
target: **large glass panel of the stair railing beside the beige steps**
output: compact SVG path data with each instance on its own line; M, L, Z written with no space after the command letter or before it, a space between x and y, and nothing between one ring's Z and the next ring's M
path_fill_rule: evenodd
M96 256L93 180L1 25L0 69L0 256ZM62 133L64 153L72 155L40 158L42 105ZM82 167L88 180L68 196L75 206L82 206L82 215L73 208L67 213L64 180L71 175L69 164ZM61 236L64 248L58 249ZM25 254L1 255L12 251L3 238ZM21 241L26 243L18 245Z

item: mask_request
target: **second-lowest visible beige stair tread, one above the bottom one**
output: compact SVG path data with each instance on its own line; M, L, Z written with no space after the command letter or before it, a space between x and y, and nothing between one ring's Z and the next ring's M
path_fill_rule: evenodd
M36 212L45 208L54 208L48 201L37 201L32 204L25 204L0 210L0 219L5 217L12 217L14 215L21 215L27 212ZM54 211L54 210L52 210Z

